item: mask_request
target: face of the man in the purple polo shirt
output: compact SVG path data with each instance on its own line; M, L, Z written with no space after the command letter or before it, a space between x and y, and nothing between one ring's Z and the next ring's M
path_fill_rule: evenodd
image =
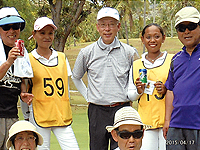
M182 22L183 25L188 25L190 22ZM193 51L194 48L199 44L200 42L200 27L197 26L196 29L189 31L187 28L185 32L178 32L178 38L183 43L184 46L186 46L187 51Z

